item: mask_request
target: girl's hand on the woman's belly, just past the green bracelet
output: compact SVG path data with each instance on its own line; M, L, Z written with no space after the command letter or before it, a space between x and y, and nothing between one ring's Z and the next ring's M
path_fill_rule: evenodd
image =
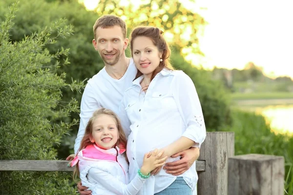
M162 167L168 156L162 157L164 151L159 152L158 149L152 152L146 153L144 156L143 166L141 167L141 173L143 175L148 175L152 170L157 167Z

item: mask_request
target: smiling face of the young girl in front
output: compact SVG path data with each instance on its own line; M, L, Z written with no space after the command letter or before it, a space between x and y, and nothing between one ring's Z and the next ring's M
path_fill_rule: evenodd
M113 117L101 115L93 121L92 143L107 150L115 146L118 138L118 128Z

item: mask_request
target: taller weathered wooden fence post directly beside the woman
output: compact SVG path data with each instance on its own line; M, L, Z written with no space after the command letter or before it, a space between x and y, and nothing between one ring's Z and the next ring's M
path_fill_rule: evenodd
M233 132L208 132L199 160L206 170L198 172L197 195L228 194L228 157L234 156Z

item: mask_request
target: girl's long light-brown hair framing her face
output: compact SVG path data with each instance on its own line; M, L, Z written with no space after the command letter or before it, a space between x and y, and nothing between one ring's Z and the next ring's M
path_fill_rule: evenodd
M88 123L87 123L85 131L84 131L84 137L81 141L80 148L78 149L76 155L79 153L79 151L86 148L86 146L93 144L90 141L90 139L92 137L92 132L93 132L93 123L94 123L95 119L97 117L100 117L101 115L108 115L108 116L113 117L115 119L115 123L116 123L117 130L118 130L118 140L116 142L116 145L119 146L120 149L126 149L127 139L126 139L125 133L123 131L123 128L122 128L122 125L121 125L121 122L120 122L118 116L113 111L111 111L109 109L101 108L101 109L96 110L93 113L93 116L90 117L90 119L88 120ZM78 183L79 180L77 179L77 176L79 176L78 163L75 165L75 169L73 172L73 180Z

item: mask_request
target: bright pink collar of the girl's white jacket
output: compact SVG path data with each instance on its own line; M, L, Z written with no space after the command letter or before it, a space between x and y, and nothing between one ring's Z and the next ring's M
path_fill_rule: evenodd
M123 154L125 151L126 149L124 146L122 146L121 148L116 146L115 148L103 150L99 148L96 144L90 144L86 146L85 149L80 151L79 154L82 153L82 157L92 159L116 161L117 152L119 152L119 154ZM72 167L76 165L76 163L79 161L79 154L75 156L75 158L71 161Z

